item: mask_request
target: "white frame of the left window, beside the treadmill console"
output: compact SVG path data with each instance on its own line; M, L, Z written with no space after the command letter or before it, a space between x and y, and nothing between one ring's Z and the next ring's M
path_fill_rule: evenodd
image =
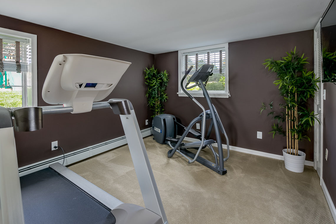
M37 35L0 27L0 35L29 40L32 47L32 106L37 106ZM24 85L24 83L22 84Z

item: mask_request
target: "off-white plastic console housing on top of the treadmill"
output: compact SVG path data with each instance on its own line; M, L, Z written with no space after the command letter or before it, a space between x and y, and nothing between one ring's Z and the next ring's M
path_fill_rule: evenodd
M106 98L130 62L85 54L60 54L51 64L42 89L50 104L72 106L72 113L91 111L92 103Z

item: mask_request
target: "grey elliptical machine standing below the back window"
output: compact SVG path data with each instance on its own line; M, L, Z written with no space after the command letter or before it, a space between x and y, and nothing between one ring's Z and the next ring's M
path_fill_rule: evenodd
M152 133L154 139L160 144L168 144L172 149L168 151L168 157L171 158L175 152L180 153L184 156L188 163L193 163L195 161L201 163L202 165L208 167L209 169L215 171L220 175L224 175L227 173L224 168L224 162L229 158L229 140L224 130L223 124L218 116L217 110L215 106L212 104L209 94L205 88L209 77L212 75L214 65L213 64L204 64L202 67L196 71L191 78L187 81L186 85L183 87L184 80L187 75L192 70L193 66L190 66L188 71L185 73L183 78L181 79L181 89L183 92L190 97L201 109L202 113L195 118L187 127L183 126L179 122L176 121L175 116L169 114L162 114L155 116L152 122ZM195 83L192 86L189 86L190 83ZM205 108L200 104L193 96L191 96L185 89L191 89L193 87L199 86L202 89L203 95L208 103L209 110L205 110ZM210 120L210 126L207 134L206 132L206 121ZM201 132L192 129L193 125L197 122L201 121L202 127ZM181 138L176 138L178 128L184 129L184 132ZM210 139L210 134L212 129L215 129L216 141ZM220 131L224 134L226 138L227 144L227 156L223 158L223 149L222 149L222 140L220 136ZM182 142L187 134L191 134L194 138L199 141L184 143ZM212 144L217 143L218 153L214 150ZM199 156L199 153L202 149L210 148L214 155L215 163L210 162L203 157ZM196 153L188 150L195 149Z

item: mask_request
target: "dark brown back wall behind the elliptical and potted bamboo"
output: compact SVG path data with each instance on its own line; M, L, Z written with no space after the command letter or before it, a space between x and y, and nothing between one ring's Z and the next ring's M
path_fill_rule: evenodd
M273 84L276 75L265 70L262 63L266 58L285 56L285 52L295 46L300 53L304 52L309 57L307 69L313 70L312 30L229 43L228 80L231 97L212 98L212 102L219 112L230 145L282 155L286 138L276 135L272 139L268 132L273 123L266 113L259 113L261 102L274 101L275 107L283 102L278 87ZM190 123L201 113L201 109L190 98L176 94L178 52L156 54L155 66L159 70L167 70L170 75L165 113L175 115L183 124ZM197 100L206 105L204 98ZM257 131L263 133L262 139L257 139ZM309 137L313 139L313 133ZM313 142L300 142L299 147L306 152L306 160L312 161Z

